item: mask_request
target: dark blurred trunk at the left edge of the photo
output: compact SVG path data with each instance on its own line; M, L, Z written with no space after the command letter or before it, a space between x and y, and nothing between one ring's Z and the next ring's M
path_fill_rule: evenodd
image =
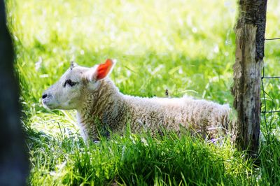
M0 185L26 185L28 159L20 124L18 81L13 71L13 45L0 0Z

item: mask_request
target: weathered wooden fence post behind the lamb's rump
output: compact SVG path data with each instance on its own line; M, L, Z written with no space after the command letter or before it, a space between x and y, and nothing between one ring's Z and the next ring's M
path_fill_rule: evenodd
M239 0L235 28L234 107L237 124L233 136L237 148L258 152L260 134L260 80L264 57L267 0Z

